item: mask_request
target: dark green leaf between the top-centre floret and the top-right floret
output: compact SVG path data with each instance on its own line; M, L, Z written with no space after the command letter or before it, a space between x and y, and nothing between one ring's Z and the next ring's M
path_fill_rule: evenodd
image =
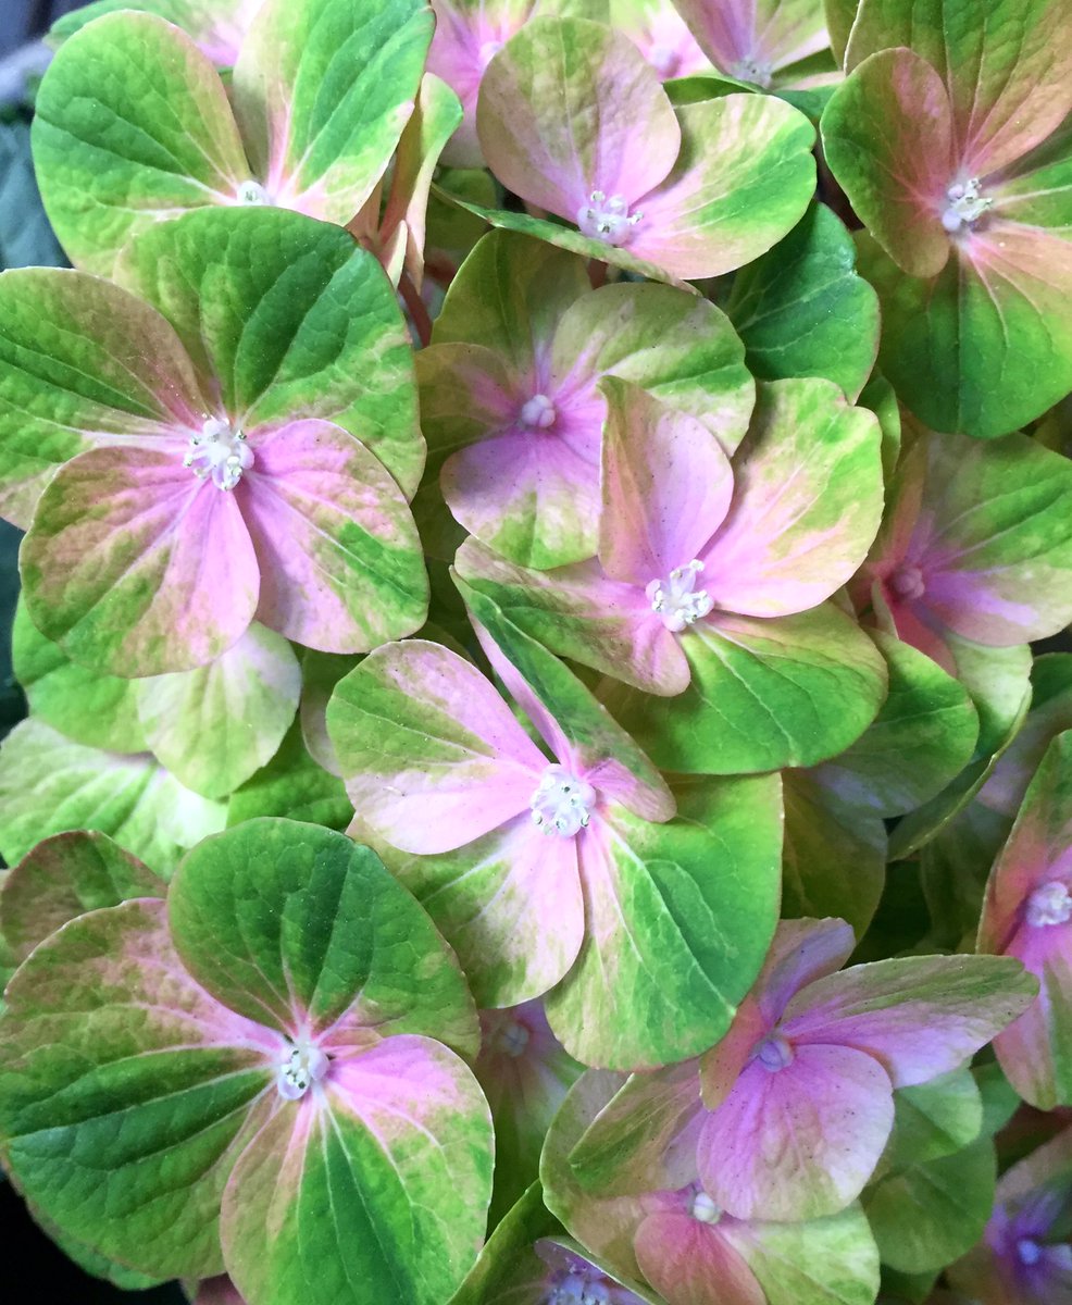
M760 380L823 376L852 402L874 367L878 296L856 273L852 238L823 204L737 273L725 311Z

